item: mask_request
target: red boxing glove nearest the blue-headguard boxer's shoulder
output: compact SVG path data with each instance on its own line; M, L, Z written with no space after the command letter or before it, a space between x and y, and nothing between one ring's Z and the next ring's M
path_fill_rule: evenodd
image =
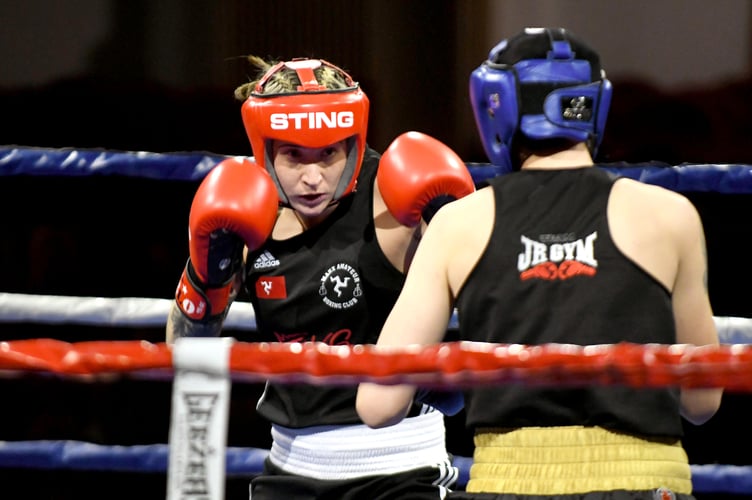
M397 137L381 156L376 174L389 211L408 227L428 222L446 203L475 191L470 171L443 142L420 132Z

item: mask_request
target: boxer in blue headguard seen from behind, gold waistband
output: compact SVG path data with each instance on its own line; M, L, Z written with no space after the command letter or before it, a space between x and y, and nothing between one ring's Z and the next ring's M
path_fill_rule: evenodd
M478 130L508 171L431 221L378 346L718 344L695 207L667 189L592 168L611 85L571 32L526 29L470 78ZM472 221L472 223L468 223ZM650 377L650 374L646 374ZM361 384L368 425L400 421L415 387ZM511 384L465 393L472 500L692 498L682 417L722 389Z

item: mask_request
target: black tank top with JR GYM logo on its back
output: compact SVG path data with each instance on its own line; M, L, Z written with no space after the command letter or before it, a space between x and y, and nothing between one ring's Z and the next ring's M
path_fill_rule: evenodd
M496 219L457 299L463 340L676 342L669 291L611 239L606 207L614 180L596 167L521 171L489 181ZM470 428L597 425L682 435L675 388L510 384L473 391L465 402Z

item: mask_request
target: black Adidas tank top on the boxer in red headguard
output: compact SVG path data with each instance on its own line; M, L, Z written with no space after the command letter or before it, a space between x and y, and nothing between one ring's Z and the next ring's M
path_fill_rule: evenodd
M245 286L258 332L239 340L376 342L404 283L376 241L378 162L368 149L357 191L323 223L287 240L269 239L248 255ZM268 383L257 410L286 427L361 423L356 388Z

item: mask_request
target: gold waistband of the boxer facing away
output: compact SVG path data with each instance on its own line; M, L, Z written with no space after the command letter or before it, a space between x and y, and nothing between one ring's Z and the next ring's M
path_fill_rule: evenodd
M572 426L482 429L474 441L468 492L571 495L664 487L692 493L689 461L679 440Z

